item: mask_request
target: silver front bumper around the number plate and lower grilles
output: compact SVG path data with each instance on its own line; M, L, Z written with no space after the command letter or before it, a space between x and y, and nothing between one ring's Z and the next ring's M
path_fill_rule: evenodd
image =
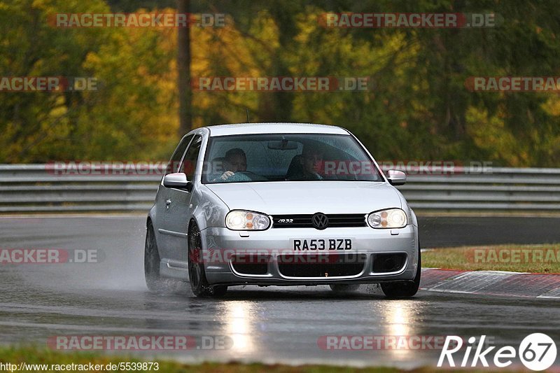
M374 230L370 227L327 228L322 231L314 228L271 228L260 232L237 232L218 227L202 230L201 235L203 250L206 254L211 252L209 255L202 255L202 258L205 258L207 280L213 285L294 286L412 280L418 265L418 227L414 225L407 225L397 230ZM293 241L291 241L293 239L352 239L352 248L344 251L293 251ZM238 252L269 255L266 273L241 274L236 271L228 256ZM351 275L288 276L280 270L278 262L279 255L286 253L302 257L317 254L354 256L363 254L365 261L363 269ZM402 267L396 271L374 272L376 254L381 253L405 254L406 259Z

